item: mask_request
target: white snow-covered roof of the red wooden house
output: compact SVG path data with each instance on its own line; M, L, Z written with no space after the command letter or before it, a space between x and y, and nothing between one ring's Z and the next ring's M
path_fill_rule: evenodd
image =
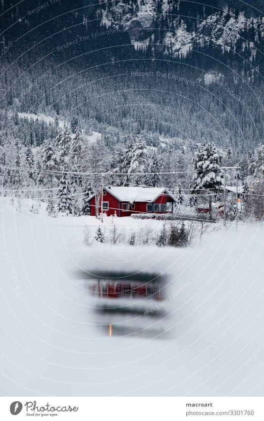
M120 202L153 202L162 193L167 192L174 200L175 197L164 187L140 187L140 186L104 186L104 189L115 196ZM92 199L94 195L89 197Z

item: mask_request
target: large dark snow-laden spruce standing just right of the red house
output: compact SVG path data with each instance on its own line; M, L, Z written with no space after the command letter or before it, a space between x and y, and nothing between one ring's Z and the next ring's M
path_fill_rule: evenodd
M222 184L223 176L220 170L221 156L216 146L210 141L193 157L195 175L192 188L194 191L211 189L216 191Z

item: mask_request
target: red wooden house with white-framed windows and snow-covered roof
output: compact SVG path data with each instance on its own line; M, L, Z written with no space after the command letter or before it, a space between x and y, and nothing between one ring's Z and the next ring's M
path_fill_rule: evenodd
M103 212L107 216L130 216L132 213L172 213L175 197L164 187L104 186ZM88 199L90 215L96 215L96 195ZM101 213L101 193L99 213Z

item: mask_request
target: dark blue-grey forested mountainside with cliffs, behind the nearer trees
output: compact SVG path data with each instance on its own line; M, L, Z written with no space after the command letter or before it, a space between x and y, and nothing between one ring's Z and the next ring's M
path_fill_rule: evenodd
M1 2L2 109L241 148L263 139L261 1L43 4Z

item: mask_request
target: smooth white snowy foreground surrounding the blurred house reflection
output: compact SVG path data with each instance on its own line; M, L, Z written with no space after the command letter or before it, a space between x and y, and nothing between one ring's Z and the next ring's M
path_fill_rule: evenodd
M23 206L19 213L6 198L0 218L2 395L263 396L260 225L239 224L236 234L230 224L193 247L160 248L87 246L85 226L100 224L94 217L50 218ZM126 231L146 225L115 223ZM151 224L158 230L162 222ZM77 276L98 270L166 276L159 323L167 336L109 337L98 329Z

